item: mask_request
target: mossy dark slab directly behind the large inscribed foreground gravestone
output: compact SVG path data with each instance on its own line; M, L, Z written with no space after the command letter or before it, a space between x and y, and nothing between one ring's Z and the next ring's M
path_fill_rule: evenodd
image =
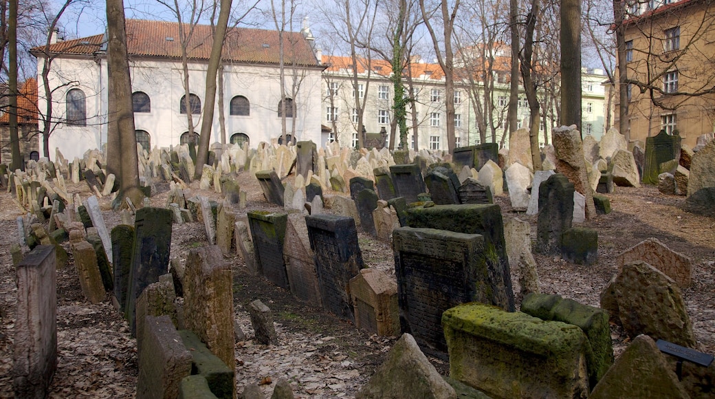
M493 304L513 312L514 294L504 240L504 222L498 205L436 205L407 211L410 227L448 230L484 236L484 250Z

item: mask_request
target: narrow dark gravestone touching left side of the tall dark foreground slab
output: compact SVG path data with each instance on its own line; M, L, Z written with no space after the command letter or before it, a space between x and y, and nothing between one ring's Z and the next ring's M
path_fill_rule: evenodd
M129 273L132 270L132 245L134 226L117 225L112 229L112 266L114 267L114 297L119 312L124 312L129 290Z

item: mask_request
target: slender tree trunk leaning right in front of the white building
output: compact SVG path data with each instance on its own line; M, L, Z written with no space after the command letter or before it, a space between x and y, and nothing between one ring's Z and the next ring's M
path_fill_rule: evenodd
M211 140L211 125L214 121L214 108L216 103L216 74L221 62L221 49L226 36L228 16L231 12L232 0L221 0L219 21L214 34L214 41L209 56L209 66L206 71L206 95L204 98L204 117L201 122L201 136L199 136L199 150L196 154L196 167L194 179L201 179L204 164L209 157L209 142Z

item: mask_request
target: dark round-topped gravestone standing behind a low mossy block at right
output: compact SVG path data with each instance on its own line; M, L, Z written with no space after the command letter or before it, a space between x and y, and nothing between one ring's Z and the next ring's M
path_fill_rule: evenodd
M538 193L536 252L561 255L563 232L573 222L573 183L561 173L541 183Z

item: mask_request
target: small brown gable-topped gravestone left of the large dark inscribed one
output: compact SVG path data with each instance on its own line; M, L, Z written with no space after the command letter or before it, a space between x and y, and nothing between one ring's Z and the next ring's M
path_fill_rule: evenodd
M360 270L349 284L355 327L377 335L398 335L400 308L395 280L385 272L368 268Z

